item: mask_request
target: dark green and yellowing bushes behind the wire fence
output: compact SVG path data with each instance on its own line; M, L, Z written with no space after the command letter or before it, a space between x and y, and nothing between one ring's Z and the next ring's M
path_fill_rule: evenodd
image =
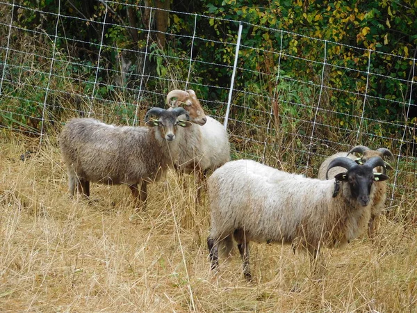
M37 136L92 112L131 123L147 107L164 106L173 88L196 90L222 120L234 21L241 21L229 120L235 157L267 156L273 166L286 161L300 169L315 162L311 153L356 144L416 155L413 1L15 4L9 50L12 7L1 8L1 125ZM410 160L403 166L415 180Z

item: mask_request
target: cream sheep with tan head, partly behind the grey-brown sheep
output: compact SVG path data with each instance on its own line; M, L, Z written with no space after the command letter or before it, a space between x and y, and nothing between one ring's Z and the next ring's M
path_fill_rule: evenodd
M170 100L177 98L172 104ZM230 143L223 125L210 116L204 115L199 99L193 90L172 90L167 94L166 103L172 107L185 104L193 126L183 129L183 141L179 143L177 170L195 173L197 178L197 200L201 200L201 185L204 185L206 171L214 171L230 160Z

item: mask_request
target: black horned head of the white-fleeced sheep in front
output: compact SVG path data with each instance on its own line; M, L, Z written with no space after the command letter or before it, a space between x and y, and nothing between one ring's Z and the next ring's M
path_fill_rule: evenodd
M370 191L373 182L383 182L389 179L384 173L373 172L373 169L377 166L384 166L384 160L381 157L372 157L363 165L359 165L347 157L338 157L330 162L326 172L326 179L328 179L327 174L329 170L336 166L341 166L347 170L334 177L336 182L346 182L349 186L352 200L356 200L363 207L366 207L370 202ZM337 193L334 194L334 197L336 195Z

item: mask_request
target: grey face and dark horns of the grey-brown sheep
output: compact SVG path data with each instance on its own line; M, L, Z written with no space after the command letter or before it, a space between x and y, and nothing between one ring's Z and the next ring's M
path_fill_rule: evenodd
M160 108L154 108L160 109ZM164 138L165 141L171 142L175 139L177 127L190 127L192 124L188 120L179 120L178 116L186 114L186 111L182 108L176 108L172 111L157 110L152 111L150 109L147 113L149 115L156 115L158 119L147 120L147 127L156 127L155 131L159 138ZM186 114L186 118L188 115Z

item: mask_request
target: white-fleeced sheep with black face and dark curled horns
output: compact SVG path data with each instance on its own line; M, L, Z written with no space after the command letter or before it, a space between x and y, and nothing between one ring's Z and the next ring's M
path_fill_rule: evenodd
M362 166L334 159L346 169L332 180L306 178L252 160L230 161L208 178L211 230L207 238L211 269L218 266L220 244L229 255L235 239L243 273L251 279L249 242L290 243L313 260L321 246L343 247L363 232L370 218L375 181L388 179L373 168L380 157Z

